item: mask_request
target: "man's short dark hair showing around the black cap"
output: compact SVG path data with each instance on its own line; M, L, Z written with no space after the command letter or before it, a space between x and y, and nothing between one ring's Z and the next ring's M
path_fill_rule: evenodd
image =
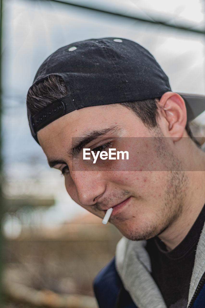
M41 111L44 107L68 95L66 84L61 76L49 75L39 83L33 85L27 94L27 108L32 115ZM131 109L142 120L147 128L157 128L159 116L159 99L146 99L137 102L120 103ZM188 136L199 146L198 140L193 136L190 126L185 127Z

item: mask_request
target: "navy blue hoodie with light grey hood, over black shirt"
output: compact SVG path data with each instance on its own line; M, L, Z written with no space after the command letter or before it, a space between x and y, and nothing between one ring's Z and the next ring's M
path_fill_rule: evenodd
M146 241L123 237L115 258L98 274L94 292L100 308L167 308L151 276ZM205 308L205 225L195 254L187 308Z

